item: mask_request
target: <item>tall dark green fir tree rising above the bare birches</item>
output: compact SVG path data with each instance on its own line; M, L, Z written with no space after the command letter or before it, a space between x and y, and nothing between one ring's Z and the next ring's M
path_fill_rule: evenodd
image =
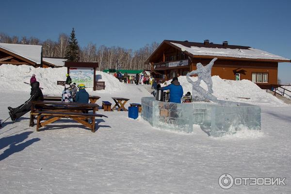
M67 59L68 62L78 62L80 59L79 46L77 38L75 37L74 28L70 35L69 45L65 51L65 59Z

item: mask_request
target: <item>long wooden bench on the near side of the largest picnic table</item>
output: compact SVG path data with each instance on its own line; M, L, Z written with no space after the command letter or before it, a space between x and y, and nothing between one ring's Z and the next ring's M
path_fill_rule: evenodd
M107 117L103 114L95 113L66 113L66 112L34 112L32 113L37 115L36 131L39 131L39 128L44 127L50 123L53 123L60 118L72 118L73 120L83 124L85 127L91 129L92 132L95 132L95 117ZM46 120L48 118L48 120ZM88 122L88 119L91 119L91 123ZM43 122L41 122L43 121Z

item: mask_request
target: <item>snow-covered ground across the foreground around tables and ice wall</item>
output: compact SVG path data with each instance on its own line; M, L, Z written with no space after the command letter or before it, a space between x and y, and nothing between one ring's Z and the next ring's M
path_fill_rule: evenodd
M27 89L13 87L8 79L12 83L19 79L21 83L21 76L34 72L48 93L59 90L46 73L42 74L45 70L32 69L17 76L16 70L11 70L8 77L3 75L1 66L0 86L4 89L0 93L0 119L8 117L7 106L16 107L29 97ZM62 72L58 75L64 76ZM41 79L48 82L42 83ZM107 74L102 79L107 79L112 88L90 91L101 97L98 104L101 100L113 101L111 97L128 97L130 103L150 96L141 85L110 81ZM179 80L184 93L190 90L183 77ZM198 128L190 134L154 129L141 118L129 119L127 112L103 111L99 113L108 118L97 119L95 133L67 119L36 132L35 127L28 127L26 114L14 124L8 120L0 129L0 194L291 193L291 106L267 93L255 99L257 88L250 88L253 83L248 81L224 81L218 77L212 80L218 98L236 101L246 100L237 97L254 98L250 102L262 109L260 132L240 131L212 138ZM9 87L5 88L3 82ZM228 89L217 90L222 84ZM247 85L249 96L238 93L246 91L243 85ZM59 95L59 91L52 94ZM263 96L266 94L270 97ZM264 98L266 101L260 102ZM282 177L287 185L233 186L224 190L219 187L218 178L225 173L233 177Z

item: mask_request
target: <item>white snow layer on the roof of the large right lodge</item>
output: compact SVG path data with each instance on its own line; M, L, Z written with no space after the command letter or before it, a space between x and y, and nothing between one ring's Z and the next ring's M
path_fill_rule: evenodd
M186 47L174 42L171 42L171 44L180 48L182 51L187 51L193 55L290 61L290 59L287 59L287 58L284 58L284 57L281 57L281 56L278 56L278 55L275 55L263 50L254 49L251 47L232 49L232 48L206 48L206 47L197 47L197 46Z

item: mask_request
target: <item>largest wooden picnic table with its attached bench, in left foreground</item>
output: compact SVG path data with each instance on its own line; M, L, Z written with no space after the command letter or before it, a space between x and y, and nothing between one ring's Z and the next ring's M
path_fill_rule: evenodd
M34 126L34 118L37 116L36 131L61 118L71 118L95 132L95 117L105 115L96 114L98 108L94 103L60 102L60 101L31 101L30 127ZM93 111L93 113L89 113ZM105 116L107 117L107 116ZM89 122L91 119L91 123ZM43 122L41 122L43 121Z

